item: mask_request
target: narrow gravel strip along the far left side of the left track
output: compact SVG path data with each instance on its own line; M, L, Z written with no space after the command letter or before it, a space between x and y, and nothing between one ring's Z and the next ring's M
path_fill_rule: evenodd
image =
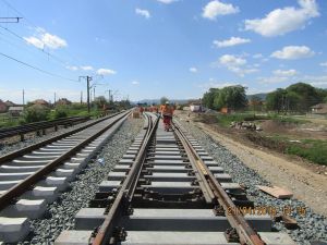
M92 120L94 121L94 120ZM72 131L74 128L77 128L80 126L83 126L83 125L86 125L88 123L92 122L90 120L87 121L87 122L84 122L84 123L80 123L80 124L76 124L76 125L73 125L73 126L70 126L68 128L60 128L58 130L57 132L53 131L53 132L50 132L50 133L47 133L47 135L43 135L43 136L37 136L36 133L35 133L35 136L34 137L31 137L31 138L26 138L24 142L16 142L16 143L13 143L13 144L3 144L2 142L0 143L0 156L3 156L5 154L10 154L12 151L15 151L17 149L22 149L24 147L27 147L27 146L31 146L33 144L36 144L36 143L39 143L39 142L43 142L45 139L48 139L48 138L51 138L53 136L57 136L57 135L60 135L60 134L63 134L65 132L69 132L69 131ZM31 135L31 134L29 134ZM20 137L20 136L19 136Z

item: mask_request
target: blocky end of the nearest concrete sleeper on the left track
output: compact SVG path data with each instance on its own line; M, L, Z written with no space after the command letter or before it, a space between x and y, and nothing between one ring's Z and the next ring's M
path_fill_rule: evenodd
M4 243L17 243L24 240L29 232L27 218L0 217L0 240Z

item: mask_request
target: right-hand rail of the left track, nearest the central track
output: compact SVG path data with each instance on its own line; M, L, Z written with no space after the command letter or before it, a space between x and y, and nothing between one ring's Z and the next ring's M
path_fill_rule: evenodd
M131 112L124 112L120 115L118 115L117 119L114 119L110 124L98 131L97 133L93 134L88 138L84 139L82 143L78 143L76 146L72 147L70 150L65 151L60 157L56 158L55 160L50 161L48 164L46 164L40 170L36 171L34 174L29 175L27 179L23 180L22 182L17 183L16 185L12 186L10 189L8 189L4 194L0 196L0 210L8 207L15 198L21 196L23 193L26 192L31 186L36 184L38 181L40 181L44 176L49 174L56 167L62 164L64 160L70 158L72 155L76 154L80 149L82 149L84 146L89 144L92 140L100 136L102 133L105 133L107 130L109 130L111 126L113 126L118 121L124 120L128 118L128 115Z

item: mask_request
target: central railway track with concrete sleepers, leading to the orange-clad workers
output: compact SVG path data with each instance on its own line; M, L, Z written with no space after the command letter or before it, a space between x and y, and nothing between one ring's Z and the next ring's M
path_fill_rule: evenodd
M178 123L166 132L156 115L146 119L75 230L55 245L294 244L271 232L270 216L238 211L254 204Z

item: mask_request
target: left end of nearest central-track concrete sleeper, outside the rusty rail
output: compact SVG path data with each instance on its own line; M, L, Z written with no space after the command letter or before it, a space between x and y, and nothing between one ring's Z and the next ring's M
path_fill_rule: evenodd
M89 245L93 231L63 231L55 241L55 245Z

